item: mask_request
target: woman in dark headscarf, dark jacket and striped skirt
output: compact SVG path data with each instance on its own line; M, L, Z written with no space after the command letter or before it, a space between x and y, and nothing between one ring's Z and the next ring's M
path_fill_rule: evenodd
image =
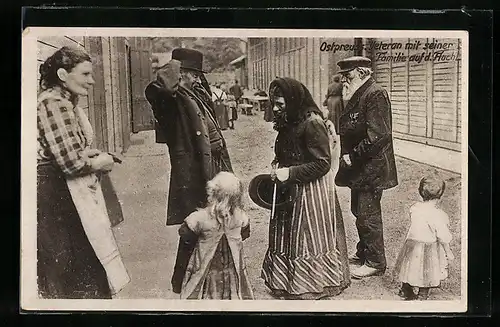
M323 114L294 79L274 80L269 94L278 131L273 175L279 183L298 185L299 192L271 217L262 278L279 298L338 295L350 278Z

